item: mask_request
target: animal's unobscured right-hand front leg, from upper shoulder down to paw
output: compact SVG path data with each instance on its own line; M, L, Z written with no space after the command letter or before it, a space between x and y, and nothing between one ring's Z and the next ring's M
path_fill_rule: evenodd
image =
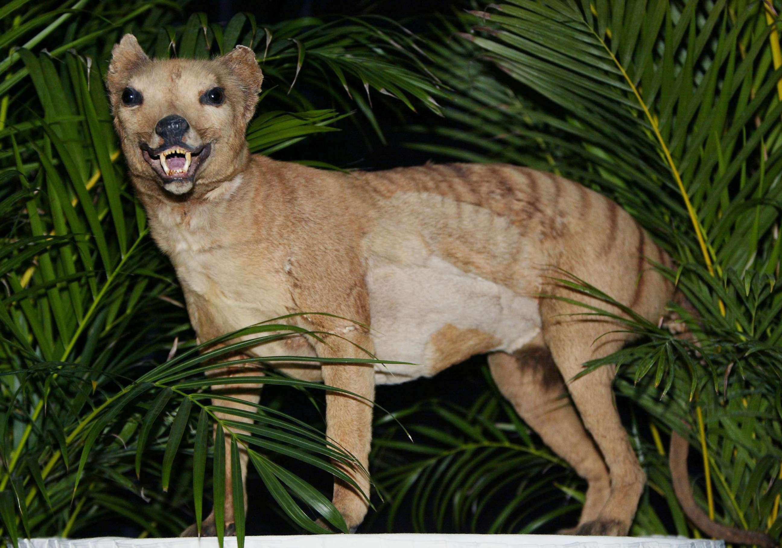
M350 221L350 222L347 222ZM310 338L321 358L369 359L375 349L369 336L371 325L369 293L365 283L366 264L361 256L361 224L353 217L331 219L323 234L325 242L293 249L288 274L292 278L292 298L296 310L328 312L334 316L307 313L302 326L319 333ZM297 255L298 253L298 255ZM307 283L311 281L312 283ZM343 319L349 318L349 320ZM355 324L353 322L361 322ZM353 392L360 397L326 392L326 435L350 452L361 467L336 466L353 479L361 492L335 481L333 502L346 525L355 531L369 507L369 446L372 439L372 406L375 399L375 368L372 364L323 363L326 385Z

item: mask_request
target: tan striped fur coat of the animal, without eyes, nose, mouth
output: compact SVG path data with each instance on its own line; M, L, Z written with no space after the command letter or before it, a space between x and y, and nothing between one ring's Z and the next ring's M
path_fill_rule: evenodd
M326 345L299 338L247 352L312 357L311 364L280 367L370 400L376 384L431 376L492 353L500 390L589 482L579 532L628 531L644 473L612 401L613 368L567 385L562 378L619 349L629 335L594 343L617 325L568 315L583 309L540 295L605 306L554 283L560 268L657 321L673 288L645 260L669 259L630 215L579 184L509 165L343 174L250 156L244 133L262 76L248 52L212 61L142 56L132 37L114 49L108 87L115 124L152 236L174 263L199 338L288 313L359 321L371 331L336 317L292 317L291 324L343 338ZM141 106L121 104L127 85L142 91ZM199 95L215 85L225 90L224 105L200 104ZM212 145L180 195L139 149L142 142L160 145L154 128L170 114L188 120L186 144ZM317 363L367 356L362 348L418 365ZM370 405L329 393L327 435L367 467ZM349 473L368 493L368 478ZM361 523L361 493L337 483L334 502L351 528Z

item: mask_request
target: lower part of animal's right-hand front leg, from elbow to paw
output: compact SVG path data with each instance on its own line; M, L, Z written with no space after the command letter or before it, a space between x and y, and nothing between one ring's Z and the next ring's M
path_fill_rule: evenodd
M371 340L366 333L360 333L357 326L343 328L350 330L350 342L334 336L324 338L325 345L316 344L318 357L361 358L373 352ZM339 332L333 331L333 332ZM347 337L347 335L344 335ZM353 344L355 343L355 344ZM357 346L361 346L358 348ZM375 399L375 368L372 364L326 363L321 367L325 385L348 390L361 396L349 396L339 392L326 393L326 435L336 445L348 451L369 470L369 450L372 439L372 403ZM335 463L337 464L337 463ZM369 507L369 477L358 467L355 469L337 464L361 488L361 492L335 479L334 506L345 518L350 532L355 532Z

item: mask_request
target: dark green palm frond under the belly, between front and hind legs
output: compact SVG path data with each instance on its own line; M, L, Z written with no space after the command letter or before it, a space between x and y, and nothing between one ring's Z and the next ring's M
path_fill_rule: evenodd
M575 514L573 497L583 501L579 478L497 389L469 408L434 399L395 415L413 423L414 442L400 439L389 418L375 426L374 479L387 500L379 511L389 531L408 507L416 532L532 533ZM427 415L438 419L414 424Z

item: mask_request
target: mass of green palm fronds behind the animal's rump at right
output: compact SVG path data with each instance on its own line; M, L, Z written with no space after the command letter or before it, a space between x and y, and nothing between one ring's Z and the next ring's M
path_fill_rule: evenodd
M647 413L643 436L675 429L705 447L709 509L777 537L779 27L770 2L486 5L436 25L430 55L454 88L443 102L450 123L412 127L428 141L411 143L554 171L615 199L647 228L680 264L664 274L698 312L672 303L698 346L630 315L626 328L641 342L585 373L622 365L620 392ZM616 304L590 282L566 283ZM651 489L686 533L658 457L647 467ZM702 493L712 487L699 485L708 506ZM662 532L655 512L642 503L633 530Z

